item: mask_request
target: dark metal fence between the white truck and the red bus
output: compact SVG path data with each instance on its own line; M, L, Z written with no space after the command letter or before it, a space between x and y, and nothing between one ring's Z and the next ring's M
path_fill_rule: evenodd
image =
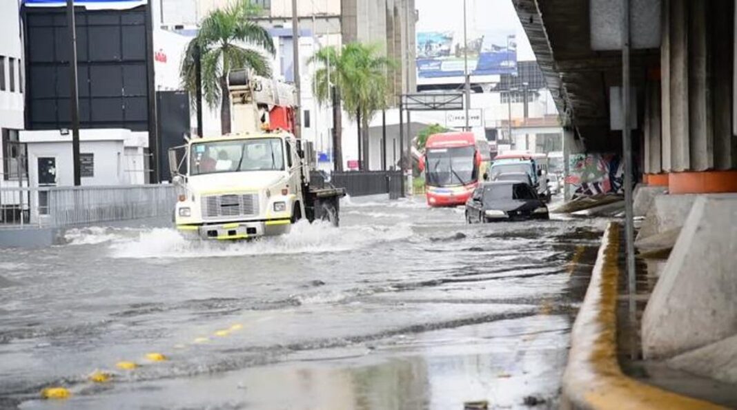
M389 194L389 198L397 199L402 195L400 171L333 172L330 182L346 188L352 197Z

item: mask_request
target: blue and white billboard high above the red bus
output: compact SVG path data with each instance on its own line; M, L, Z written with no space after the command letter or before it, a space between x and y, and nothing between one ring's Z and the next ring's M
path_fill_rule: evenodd
M517 40L509 31L480 31L468 37L468 71L472 76L517 73ZM417 77L464 77L463 32L418 32Z

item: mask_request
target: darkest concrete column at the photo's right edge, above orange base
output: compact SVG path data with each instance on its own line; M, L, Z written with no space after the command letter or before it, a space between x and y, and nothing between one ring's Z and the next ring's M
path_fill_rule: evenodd
M713 52L714 169L737 168L737 138L732 133L732 82L734 58L734 1L713 0L709 26Z

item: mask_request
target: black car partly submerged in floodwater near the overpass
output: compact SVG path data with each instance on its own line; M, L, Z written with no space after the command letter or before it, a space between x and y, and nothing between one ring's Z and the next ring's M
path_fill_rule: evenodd
M466 221L469 224L519 219L550 219L548 207L526 183L483 183L466 202Z

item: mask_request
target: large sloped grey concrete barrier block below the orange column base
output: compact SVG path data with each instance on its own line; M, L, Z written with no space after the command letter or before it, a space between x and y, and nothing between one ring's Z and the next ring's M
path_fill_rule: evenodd
M646 358L737 335L737 194L699 196L643 314Z

